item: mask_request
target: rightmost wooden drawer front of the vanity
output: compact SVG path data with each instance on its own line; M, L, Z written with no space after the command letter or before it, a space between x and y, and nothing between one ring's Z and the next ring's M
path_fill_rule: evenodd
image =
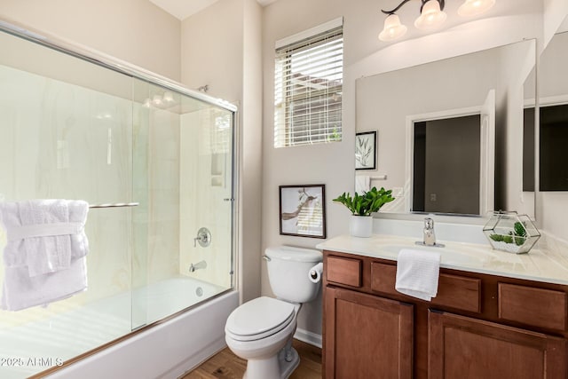
M533 327L566 330L566 294L499 283L499 318Z

